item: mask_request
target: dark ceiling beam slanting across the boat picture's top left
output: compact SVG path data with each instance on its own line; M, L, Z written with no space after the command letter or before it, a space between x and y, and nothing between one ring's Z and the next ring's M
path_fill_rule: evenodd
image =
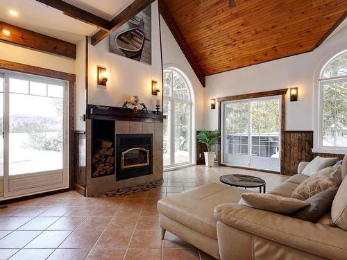
M108 23L109 31L100 30L92 36L92 45L96 45L101 42L105 37L116 31L119 27L130 20L134 15L144 10L147 6L153 3L155 0L135 0L127 8L125 8L119 15L113 18Z

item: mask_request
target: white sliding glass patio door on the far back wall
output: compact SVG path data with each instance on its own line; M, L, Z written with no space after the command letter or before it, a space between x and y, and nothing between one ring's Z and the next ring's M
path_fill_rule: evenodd
M280 96L222 103L222 163L280 171Z

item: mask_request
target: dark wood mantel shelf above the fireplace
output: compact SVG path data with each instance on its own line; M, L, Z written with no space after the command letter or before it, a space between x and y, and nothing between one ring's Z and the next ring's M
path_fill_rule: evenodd
M155 114L149 110L148 113L141 111L133 112L132 109L124 110L121 107L108 107L107 110L99 109L96 105L88 105L90 119L118 120L118 121L142 121L142 122L162 122L167 116L162 112Z

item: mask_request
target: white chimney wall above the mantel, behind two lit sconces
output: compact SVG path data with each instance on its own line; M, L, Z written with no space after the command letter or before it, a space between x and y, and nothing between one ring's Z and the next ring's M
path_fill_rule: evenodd
M162 93L162 65L160 58L160 37L158 3L152 4L152 64L130 60L108 51L108 37L89 46L88 64L88 103L93 105L121 106L124 101L137 95L140 101L154 110L155 99L151 94L151 81L158 81ZM105 89L96 84L97 67L108 71L108 82ZM131 106L130 106L131 107Z

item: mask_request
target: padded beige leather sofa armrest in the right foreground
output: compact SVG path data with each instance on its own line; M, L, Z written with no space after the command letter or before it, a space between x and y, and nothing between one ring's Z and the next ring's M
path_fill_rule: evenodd
M217 220L264 239L329 259L347 259L347 232L343 229L227 203L214 209Z

